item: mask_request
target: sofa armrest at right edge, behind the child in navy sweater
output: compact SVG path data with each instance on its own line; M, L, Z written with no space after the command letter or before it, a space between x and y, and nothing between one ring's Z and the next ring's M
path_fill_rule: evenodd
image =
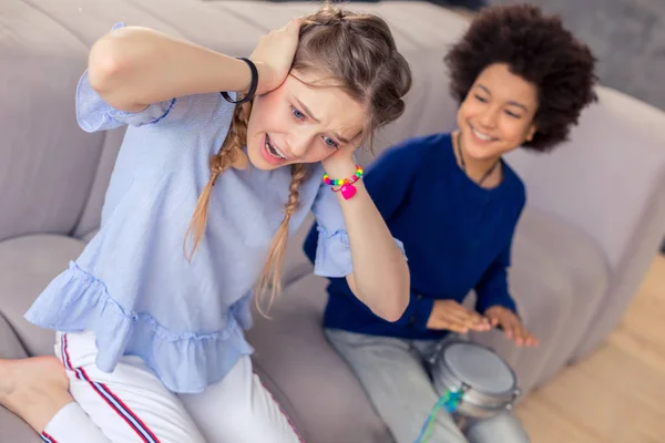
M605 255L607 293L580 343L594 349L620 320L665 233L665 112L598 87L571 142L551 154L508 156L528 205L584 230Z

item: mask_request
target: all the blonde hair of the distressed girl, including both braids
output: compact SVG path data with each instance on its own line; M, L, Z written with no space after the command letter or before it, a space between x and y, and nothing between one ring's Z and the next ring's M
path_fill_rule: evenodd
M357 14L330 4L324 6L305 19L300 27L298 49L291 70L325 73L354 100L367 104L369 115L365 134L368 136L377 127L402 114L402 96L411 87L411 71L407 61L396 50L388 24L376 16ZM247 164L243 146L247 141L249 113L250 105L236 106L228 134L219 152L211 157L211 178L198 197L185 237L185 255L188 259L192 259L203 239L211 193L217 177L229 167L243 167ZM257 284L259 296L270 289L268 306L282 290L288 224L298 207L298 188L305 178L305 165L291 165L291 182L284 219L273 237ZM190 237L192 249L187 253L186 244ZM258 298L257 306L260 310Z

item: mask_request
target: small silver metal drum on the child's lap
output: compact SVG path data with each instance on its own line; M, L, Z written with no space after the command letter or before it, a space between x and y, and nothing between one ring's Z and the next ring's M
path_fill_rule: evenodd
M487 419L510 410L521 393L510 365L478 343L447 342L431 372L438 394L454 396L451 412L461 420Z

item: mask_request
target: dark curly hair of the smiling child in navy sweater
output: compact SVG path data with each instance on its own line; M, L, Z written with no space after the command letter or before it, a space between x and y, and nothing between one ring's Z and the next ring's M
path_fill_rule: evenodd
M595 56L565 30L556 16L534 6L483 9L462 39L446 55L451 93L461 103L489 65L510 71L538 87L536 132L524 147L546 152L569 137L582 109L597 100Z

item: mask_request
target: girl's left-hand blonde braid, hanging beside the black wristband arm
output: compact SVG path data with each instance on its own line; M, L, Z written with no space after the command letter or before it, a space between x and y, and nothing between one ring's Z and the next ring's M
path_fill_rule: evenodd
M243 145L247 141L247 120L249 111L250 105L248 104L245 104L245 106L236 106L233 112L233 120L231 122L231 127L228 128L228 134L226 134L226 138L224 138L224 143L222 144L219 152L213 155L209 159L212 175L207 185L205 185L203 192L198 196L196 208L194 209L194 215L192 216L192 222L190 222L190 226L187 227L187 231L185 234L185 240L183 241L183 250L185 253L185 257L190 261L192 261L194 251L198 247L198 244L201 243L201 239L205 233L211 194L217 177L219 177L219 174L232 166L243 169L248 165L247 156L243 152ZM193 245L192 250L187 253L187 239L190 237L193 241Z

